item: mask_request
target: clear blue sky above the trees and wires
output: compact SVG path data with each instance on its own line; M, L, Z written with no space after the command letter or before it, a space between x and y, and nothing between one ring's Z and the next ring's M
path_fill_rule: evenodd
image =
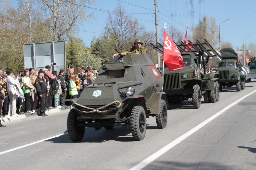
M155 32L154 0L96 0L96 4L90 7L114 11L118 3L125 7L126 12L134 13L133 17L145 25L148 31ZM188 34L192 35L192 29L204 15L208 15L216 19L218 28L221 22L230 18L220 25L222 42L231 42L233 48L241 47L244 37L251 34L245 38L245 43L247 45L251 42L256 43L255 0L157 0L157 4L159 30L166 23L167 27L173 25L185 35L186 26L189 25ZM95 19L85 23L78 32L78 37L84 40L86 46L91 45L93 36L101 35L108 15L99 10L89 9L89 11L94 11Z

